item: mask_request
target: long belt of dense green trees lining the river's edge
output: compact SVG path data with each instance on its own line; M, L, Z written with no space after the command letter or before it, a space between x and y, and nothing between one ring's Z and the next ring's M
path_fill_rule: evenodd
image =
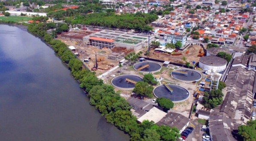
M176 141L180 136L176 127L157 126L145 120L141 124L130 111L131 107L111 85L103 84L94 72L84 68L82 62L67 48L66 44L52 39L45 23L29 24L28 31L41 37L50 45L60 59L67 64L71 74L80 82L80 87L90 98L90 104L105 116L108 123L114 124L131 136L131 141ZM152 87L152 86L151 86Z

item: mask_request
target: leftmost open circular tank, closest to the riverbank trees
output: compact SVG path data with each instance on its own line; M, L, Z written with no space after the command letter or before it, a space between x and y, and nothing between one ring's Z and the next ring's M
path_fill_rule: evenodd
M111 84L122 90L133 90L135 84L126 81L126 78L135 82L142 81L142 78L136 75L119 75L112 79Z

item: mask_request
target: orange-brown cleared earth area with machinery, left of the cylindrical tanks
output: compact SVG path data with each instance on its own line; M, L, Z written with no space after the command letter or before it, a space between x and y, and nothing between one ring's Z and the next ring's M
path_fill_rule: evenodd
M148 51L148 49L144 49L144 51ZM185 64L185 62L199 62L199 58L205 56L205 49L200 45L190 45L184 51L175 50L172 53L155 51L154 48L150 49L149 55L142 55L142 57L150 57L152 59L157 60L165 60L173 63ZM186 61L182 60L182 57L186 58Z

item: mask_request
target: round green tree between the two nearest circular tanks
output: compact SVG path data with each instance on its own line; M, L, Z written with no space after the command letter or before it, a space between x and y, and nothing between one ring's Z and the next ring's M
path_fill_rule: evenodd
M136 93L139 96L145 96L148 98L152 98L154 87L148 84L147 82L144 81L139 81L135 84L135 87L133 89L133 92Z

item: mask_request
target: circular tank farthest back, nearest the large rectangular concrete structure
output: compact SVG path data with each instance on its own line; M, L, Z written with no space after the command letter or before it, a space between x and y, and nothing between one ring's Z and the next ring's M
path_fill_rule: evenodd
M148 66L146 66L148 65ZM140 69L141 67L143 66L146 66L145 68L143 69ZM136 63L134 66L133 66L134 69L140 71L140 72L157 72L159 71L162 66L158 63L154 63L154 62L139 62L139 63Z

